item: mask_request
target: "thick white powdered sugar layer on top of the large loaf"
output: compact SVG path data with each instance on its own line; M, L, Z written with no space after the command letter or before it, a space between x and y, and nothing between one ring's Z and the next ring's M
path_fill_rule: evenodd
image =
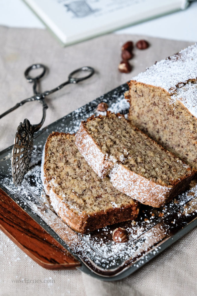
M197 117L197 43L139 73L131 80L161 87ZM190 81L193 80L193 81Z

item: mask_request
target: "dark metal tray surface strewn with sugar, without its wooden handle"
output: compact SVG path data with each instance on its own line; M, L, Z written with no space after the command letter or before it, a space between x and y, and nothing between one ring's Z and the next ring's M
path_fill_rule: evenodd
M196 226L197 182L193 180L187 192L162 208L141 206L137 221L127 221L91 232L78 234L54 213L40 180L40 160L43 145L52 131L75 133L81 120L97 112L100 102L106 102L115 113L127 114L124 99L127 84L102 95L78 110L57 120L35 134L32 165L21 187L15 187L11 176L11 148L0 153L0 187L32 218L81 261L80 269L103 280L117 280L133 273ZM112 232L124 227L129 241L117 244Z

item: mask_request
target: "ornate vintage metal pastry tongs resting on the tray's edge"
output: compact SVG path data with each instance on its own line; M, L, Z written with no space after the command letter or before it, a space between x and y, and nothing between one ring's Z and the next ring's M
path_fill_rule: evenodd
M42 73L36 77L31 77L29 75L30 71L33 69L43 69ZM58 87L51 89L50 91L44 91L42 93L37 91L39 79L42 78L46 73L47 67L42 64L34 64L28 67L25 70L25 78L28 82L33 82L33 93L34 95L30 98L22 100L21 102L17 103L14 107L10 108L6 112L0 115L0 119L7 115L8 113L12 112L13 110L17 109L18 107L22 106L26 102L31 102L38 100L43 105L43 116L40 123L36 125L30 124L30 121L25 118L23 123L21 122L17 128L17 133L14 138L14 146L12 149L12 177L13 182L16 186L20 186L25 174L30 165L31 155L33 151L33 135L36 131L38 131L41 126L43 125L46 117L46 109L48 108L45 102L45 96L53 94L55 91L58 91L62 87L70 83L78 83L83 81L89 77L91 77L95 70L92 67L81 67L73 72L71 72L68 76L68 81L60 84ZM83 75L82 77L76 77L76 75L82 75L83 73L87 72L87 75Z

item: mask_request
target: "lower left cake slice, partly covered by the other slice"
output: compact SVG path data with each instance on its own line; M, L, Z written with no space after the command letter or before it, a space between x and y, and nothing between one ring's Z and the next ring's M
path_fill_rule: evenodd
M75 135L52 133L42 158L42 181L56 213L75 231L85 233L134 220L138 202L100 179L75 146Z

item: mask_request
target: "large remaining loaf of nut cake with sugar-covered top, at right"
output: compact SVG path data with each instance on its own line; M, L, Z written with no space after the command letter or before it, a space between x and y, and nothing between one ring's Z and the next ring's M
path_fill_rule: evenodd
M128 86L131 123L197 168L197 44L156 62Z

